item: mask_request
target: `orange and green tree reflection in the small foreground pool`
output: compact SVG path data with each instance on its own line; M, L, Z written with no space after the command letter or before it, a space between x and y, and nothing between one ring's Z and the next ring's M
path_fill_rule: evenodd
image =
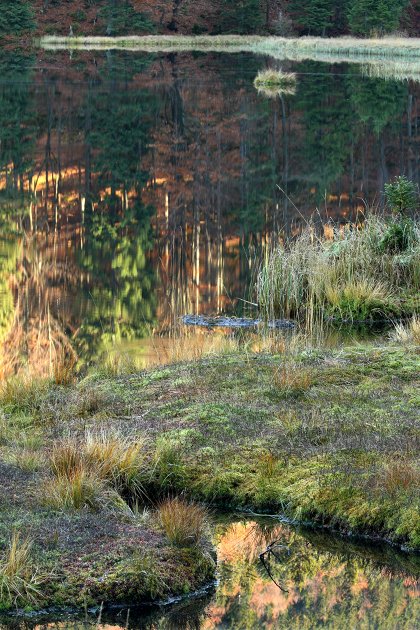
M258 560L278 541L272 578ZM220 587L203 628L414 628L419 565L322 532L239 521L218 536Z

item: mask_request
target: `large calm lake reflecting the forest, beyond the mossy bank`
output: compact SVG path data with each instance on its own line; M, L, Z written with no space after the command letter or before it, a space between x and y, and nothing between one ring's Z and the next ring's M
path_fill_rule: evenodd
M420 180L418 83L250 54L0 53L0 376L171 354L184 313L246 311L255 257ZM278 62L276 62L278 63Z

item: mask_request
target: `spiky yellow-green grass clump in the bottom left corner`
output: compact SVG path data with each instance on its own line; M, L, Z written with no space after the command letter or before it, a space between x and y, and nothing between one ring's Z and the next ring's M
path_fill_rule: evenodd
M30 605L41 599L40 586L46 581L34 565L31 543L11 536L9 547L0 558L0 605Z

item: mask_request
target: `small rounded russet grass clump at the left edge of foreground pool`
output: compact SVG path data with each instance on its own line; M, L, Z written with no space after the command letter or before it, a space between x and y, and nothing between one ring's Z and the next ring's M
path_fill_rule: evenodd
M192 547L205 535L208 513L201 505L175 497L159 506L158 518L171 544Z

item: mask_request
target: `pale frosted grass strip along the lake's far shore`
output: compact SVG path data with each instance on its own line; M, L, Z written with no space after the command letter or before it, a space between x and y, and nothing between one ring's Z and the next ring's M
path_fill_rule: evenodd
M144 52L250 52L279 61L312 59L328 63L364 63L368 76L418 80L420 39L352 37L261 37L257 35L156 35L143 37L58 37L40 40L46 50L132 50Z

